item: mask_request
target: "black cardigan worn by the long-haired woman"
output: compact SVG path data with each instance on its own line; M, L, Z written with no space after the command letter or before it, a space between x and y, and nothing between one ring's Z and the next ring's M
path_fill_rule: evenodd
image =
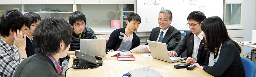
M218 54L216 54L218 55ZM236 45L231 41L223 41L218 60L213 66L209 65L210 53L203 67L212 76L245 77L244 65Z

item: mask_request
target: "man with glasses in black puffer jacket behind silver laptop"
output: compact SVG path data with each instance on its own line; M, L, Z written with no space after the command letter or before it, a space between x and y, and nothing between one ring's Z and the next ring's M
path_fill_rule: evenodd
M80 51L80 39L96 39L94 31L85 26L86 18L83 12L75 11L71 13L68 21L73 28L72 40L67 56L65 57L64 62L62 62L62 65L68 64L70 55L75 55L75 51ZM67 65L64 67L63 71L66 71L66 69Z

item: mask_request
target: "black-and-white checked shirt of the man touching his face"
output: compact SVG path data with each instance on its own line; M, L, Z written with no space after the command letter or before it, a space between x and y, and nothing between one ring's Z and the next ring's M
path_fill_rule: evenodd
M9 46L4 40L0 38L0 76L12 77L16 67L25 58L20 58L18 48L12 44Z

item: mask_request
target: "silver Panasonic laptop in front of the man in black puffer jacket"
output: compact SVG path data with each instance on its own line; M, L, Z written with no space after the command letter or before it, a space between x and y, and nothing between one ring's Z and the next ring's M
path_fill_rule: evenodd
M80 52L90 56L105 57L106 55L106 39L81 39Z

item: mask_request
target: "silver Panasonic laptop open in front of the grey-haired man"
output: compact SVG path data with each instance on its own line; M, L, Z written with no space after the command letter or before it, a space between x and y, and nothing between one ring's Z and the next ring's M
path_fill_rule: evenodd
M149 44L149 49L153 58L157 58L159 60L167 61L170 63L184 60L184 58L181 57L171 57L168 55L168 50L165 43L150 40L147 40L147 43Z

